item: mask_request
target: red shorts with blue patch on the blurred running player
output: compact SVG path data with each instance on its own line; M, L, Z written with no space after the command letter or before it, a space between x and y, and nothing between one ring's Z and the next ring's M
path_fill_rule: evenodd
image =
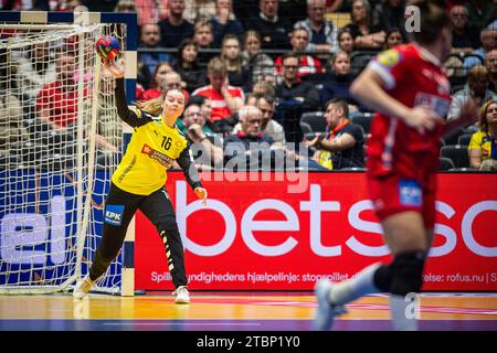
M368 189L380 221L401 212L415 211L423 216L426 229L435 226L436 174L431 174L424 186L413 179L395 174L368 175Z

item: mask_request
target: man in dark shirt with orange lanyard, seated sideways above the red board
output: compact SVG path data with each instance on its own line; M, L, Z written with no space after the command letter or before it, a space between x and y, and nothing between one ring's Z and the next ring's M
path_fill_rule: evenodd
M328 131L310 141L305 140L307 147L317 148L313 159L329 170L364 168L363 130L350 122L347 101L331 99L326 104L325 111Z

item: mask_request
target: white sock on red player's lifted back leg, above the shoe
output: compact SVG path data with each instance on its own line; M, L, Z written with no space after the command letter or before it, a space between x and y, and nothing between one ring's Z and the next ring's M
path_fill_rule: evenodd
M374 286L374 272L381 266L380 263L366 267L351 279L334 284L329 299L335 304L345 304L364 295L378 293Z

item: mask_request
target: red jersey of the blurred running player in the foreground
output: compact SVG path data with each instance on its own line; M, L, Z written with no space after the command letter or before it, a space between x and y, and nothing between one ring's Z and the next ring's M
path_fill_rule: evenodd
M430 106L445 118L451 85L440 61L416 44L399 45L380 53L368 68L384 82L384 89L408 107ZM424 184L436 172L442 124L424 133L396 117L377 113L368 141L368 171L372 176L398 174Z

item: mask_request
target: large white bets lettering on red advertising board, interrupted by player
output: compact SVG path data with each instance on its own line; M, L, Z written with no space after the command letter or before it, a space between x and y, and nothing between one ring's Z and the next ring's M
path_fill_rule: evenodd
M300 195L305 195L302 193ZM345 245L326 246L321 242L321 216L324 212L343 212L341 210L340 202L338 201L324 201L321 197L321 186L319 184L309 185L309 195L299 202L300 212L309 212L310 226L308 234L310 236L310 248L314 254L321 257L340 256L342 247L348 246L352 252L369 257L384 256L389 254L389 249L385 245L370 246L361 243L358 238L351 235ZM209 199L207 206L201 204L201 201L194 201L187 204L187 183L184 181L176 182L176 207L177 218L180 233L183 236L183 243L188 250L198 256L216 256L229 250L236 236L237 220L233 214L230 206L215 199ZM211 210L218 212L225 224L225 232L220 242L213 245L204 246L199 245L188 236L187 232L187 218L194 214L197 211ZM257 213L264 210L275 210L285 216L285 221L254 221ZM349 225L361 232L381 234L381 227L379 223L361 220L360 214L363 211L372 210L372 203L370 200L361 200L356 202L348 211ZM437 201L436 210L443 214L447 220L451 220L456 211L447 203ZM496 257L497 247L488 247L479 244L473 235L473 223L475 218L484 212L497 211L497 201L482 201L473 204L464 213L464 217L461 224L461 234L463 243L474 254L483 257ZM292 236L288 236L283 243L277 245L264 245L261 244L254 236L256 231L265 232L299 232L299 216L297 212L286 202L275 199L262 199L258 200L244 211L241 220L241 235L245 245L253 253L263 256L282 256L288 254L294 249L298 242ZM445 239L442 245L433 247L430 252L430 256L445 256L454 250L457 245L456 232L447 225L437 223L435 225L435 234L443 236Z

